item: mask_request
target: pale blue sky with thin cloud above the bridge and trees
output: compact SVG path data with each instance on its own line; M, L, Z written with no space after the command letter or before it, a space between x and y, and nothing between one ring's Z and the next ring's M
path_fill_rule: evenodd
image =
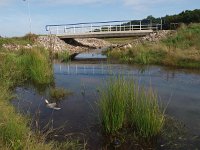
M200 9L200 0L29 0L32 32L45 34L47 24L143 19ZM28 1L0 0L0 35L29 32Z

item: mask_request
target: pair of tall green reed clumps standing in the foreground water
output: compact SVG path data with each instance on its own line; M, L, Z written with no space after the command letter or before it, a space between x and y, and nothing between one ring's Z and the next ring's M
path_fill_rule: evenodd
M164 124L157 94L121 76L109 80L101 92L99 108L102 127L109 135L130 126L139 137L151 139L160 134Z

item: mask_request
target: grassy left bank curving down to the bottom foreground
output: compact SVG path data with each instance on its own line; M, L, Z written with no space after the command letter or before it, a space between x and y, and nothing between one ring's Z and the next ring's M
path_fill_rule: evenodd
M0 48L0 149L80 149L80 144L71 141L47 143L46 135L35 134L30 128L31 120L16 112L10 104L15 86L25 82L49 85L52 81L49 53L44 48L20 49L15 52Z

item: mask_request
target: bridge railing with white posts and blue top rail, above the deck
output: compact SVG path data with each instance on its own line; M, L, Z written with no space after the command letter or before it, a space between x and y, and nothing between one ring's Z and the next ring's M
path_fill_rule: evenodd
M90 22L77 24L47 25L46 31L55 35L97 34L98 32L123 32L134 30L158 30L161 24L147 20L124 20L107 22Z

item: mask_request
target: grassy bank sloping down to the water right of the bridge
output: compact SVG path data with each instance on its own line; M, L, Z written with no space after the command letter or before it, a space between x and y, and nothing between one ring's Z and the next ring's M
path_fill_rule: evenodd
M182 25L175 34L157 43L115 48L107 55L124 63L200 68L200 24Z

